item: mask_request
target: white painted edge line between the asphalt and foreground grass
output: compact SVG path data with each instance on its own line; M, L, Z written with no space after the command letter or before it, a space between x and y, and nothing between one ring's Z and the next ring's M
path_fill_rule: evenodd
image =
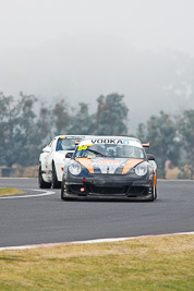
M29 244L29 245L19 245L19 246L4 246L4 247L0 247L0 251L29 250L29 248L49 247L49 246L58 246L58 245L65 245L65 244L121 242L121 241L126 241L126 240L146 239L146 238L154 238L154 237L185 235L185 234L194 234L194 231L168 233L168 234L149 234L149 235L138 235L138 237L129 237L129 238L118 238L118 239L98 239L98 240L62 242L62 243L44 243L44 244Z

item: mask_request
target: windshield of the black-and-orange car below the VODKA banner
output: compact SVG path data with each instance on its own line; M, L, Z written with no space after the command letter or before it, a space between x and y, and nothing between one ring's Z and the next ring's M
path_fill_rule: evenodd
M75 150L75 158L96 157L144 159L145 155L142 147L121 144L81 145Z

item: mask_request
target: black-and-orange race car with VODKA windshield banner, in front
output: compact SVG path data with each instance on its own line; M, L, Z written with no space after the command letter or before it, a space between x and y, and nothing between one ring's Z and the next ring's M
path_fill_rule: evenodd
M61 199L154 202L157 163L144 146L148 144L125 136L93 136L82 141L64 167Z

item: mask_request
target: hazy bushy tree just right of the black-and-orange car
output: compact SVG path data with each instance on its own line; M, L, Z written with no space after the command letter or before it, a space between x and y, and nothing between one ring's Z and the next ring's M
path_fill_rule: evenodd
M150 153L156 156L158 177L166 178L166 161L177 166L180 154L180 143L177 140L178 131L173 119L160 111L159 117L150 117L146 125L140 124L137 136L142 142L150 143Z

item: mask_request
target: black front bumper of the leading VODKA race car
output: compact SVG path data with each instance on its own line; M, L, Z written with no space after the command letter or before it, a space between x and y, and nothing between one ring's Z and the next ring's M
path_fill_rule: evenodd
M111 198L147 201L151 198L153 178L131 175L98 174L85 178L69 175L62 181L64 196L68 198Z

